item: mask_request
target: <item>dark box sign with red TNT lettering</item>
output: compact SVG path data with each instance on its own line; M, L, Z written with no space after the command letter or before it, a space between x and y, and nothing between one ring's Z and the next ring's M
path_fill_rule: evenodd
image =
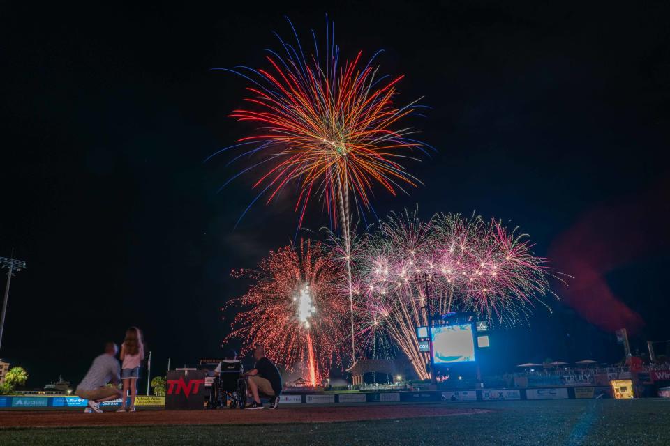
M204 386L205 372L200 370L168 371L165 408L168 410L202 409L209 388Z

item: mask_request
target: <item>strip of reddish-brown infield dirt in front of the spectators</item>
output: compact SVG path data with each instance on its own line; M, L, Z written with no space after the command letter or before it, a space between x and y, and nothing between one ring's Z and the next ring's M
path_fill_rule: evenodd
M156 424L260 424L383 420L389 418L445 417L489 412L442 405L301 407L278 410L142 410L136 413L83 413L82 411L0 412L3 427L136 426Z

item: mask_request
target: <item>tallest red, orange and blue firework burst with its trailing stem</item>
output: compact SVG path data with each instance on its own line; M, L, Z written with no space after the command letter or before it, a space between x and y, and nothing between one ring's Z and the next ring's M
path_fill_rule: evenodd
M285 187L295 185L298 226L308 203L316 197L332 225L341 226L349 257L350 197L357 210L368 210L375 185L393 195L398 190L405 192L408 185L416 186L419 180L401 161L416 151L425 152L425 144L413 139L417 132L403 124L408 116L417 114L418 100L401 107L394 104L403 75L378 74L373 64L381 51L367 62L362 51L341 62L334 24L330 29L328 21L326 24L325 51L319 52L312 31L314 51L306 56L291 24L295 45L279 38L285 56L268 50L266 68L223 69L251 82L245 100L248 107L235 109L230 116L251 123L254 131L230 148L250 148L234 160L257 157L255 164L233 177L247 171L257 173L253 187L260 193L251 204L262 196L269 203ZM349 282L350 269L347 260ZM353 326L351 336L353 344ZM352 355L354 351L352 345Z

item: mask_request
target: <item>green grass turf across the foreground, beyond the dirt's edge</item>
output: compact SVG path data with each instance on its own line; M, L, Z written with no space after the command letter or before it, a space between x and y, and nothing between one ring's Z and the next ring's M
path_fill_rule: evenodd
M1 445L669 445L670 400L449 403L491 413L305 424L0 429ZM346 408L341 408L346 410ZM262 416L262 413L258 413ZM95 416L95 415L91 415Z

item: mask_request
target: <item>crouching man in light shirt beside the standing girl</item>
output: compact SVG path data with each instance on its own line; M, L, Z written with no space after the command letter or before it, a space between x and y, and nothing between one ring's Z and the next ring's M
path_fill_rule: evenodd
M101 413L100 403L121 398L121 390L117 387L108 387L108 383L118 385L121 382L121 368L115 357L119 353L117 344L107 342L105 353L96 357L91 368L79 385L75 394L77 397L89 400L89 407L84 412Z

